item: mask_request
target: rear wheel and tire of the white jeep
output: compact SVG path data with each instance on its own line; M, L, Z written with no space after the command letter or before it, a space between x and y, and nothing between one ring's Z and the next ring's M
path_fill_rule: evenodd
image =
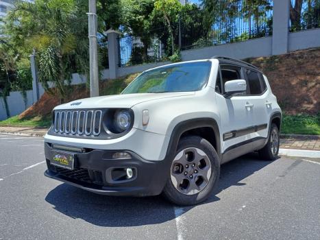
M273 149L271 150L271 145L273 145ZM279 152L279 145L280 145L280 134L277 125L272 123L270 132L269 132L269 139L267 144L258 151L260 158L263 160L275 160L278 158ZM275 148L274 148L275 147Z

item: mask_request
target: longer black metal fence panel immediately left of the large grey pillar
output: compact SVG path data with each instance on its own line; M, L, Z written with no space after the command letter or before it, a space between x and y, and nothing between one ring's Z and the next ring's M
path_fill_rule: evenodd
M193 49L234 43L272 35L273 2L251 7L247 1L220 1L216 14L206 27L204 10L187 12L180 17L180 49ZM192 24L190 24L192 18Z

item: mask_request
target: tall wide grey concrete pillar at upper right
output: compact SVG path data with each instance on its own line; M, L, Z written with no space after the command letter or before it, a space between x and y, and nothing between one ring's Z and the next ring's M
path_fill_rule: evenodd
M288 52L290 1L273 1L272 55Z

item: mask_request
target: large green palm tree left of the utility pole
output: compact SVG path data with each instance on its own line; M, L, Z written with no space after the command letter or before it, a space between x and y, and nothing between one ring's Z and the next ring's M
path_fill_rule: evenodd
M79 6L85 7L84 1L18 1L5 19L5 35L21 46L16 47L21 55L36 50L42 86L52 93L48 84L52 82L62 101L64 80L70 80L76 69L88 69L87 16Z

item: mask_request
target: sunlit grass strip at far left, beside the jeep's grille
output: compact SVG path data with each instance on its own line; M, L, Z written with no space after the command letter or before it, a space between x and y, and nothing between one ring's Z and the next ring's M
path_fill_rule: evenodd
M3 121L0 121L1 125L12 125L12 126L31 126L31 127L49 127L51 125L51 117L50 116L37 116L32 117L30 119L19 119L19 116L10 117Z

